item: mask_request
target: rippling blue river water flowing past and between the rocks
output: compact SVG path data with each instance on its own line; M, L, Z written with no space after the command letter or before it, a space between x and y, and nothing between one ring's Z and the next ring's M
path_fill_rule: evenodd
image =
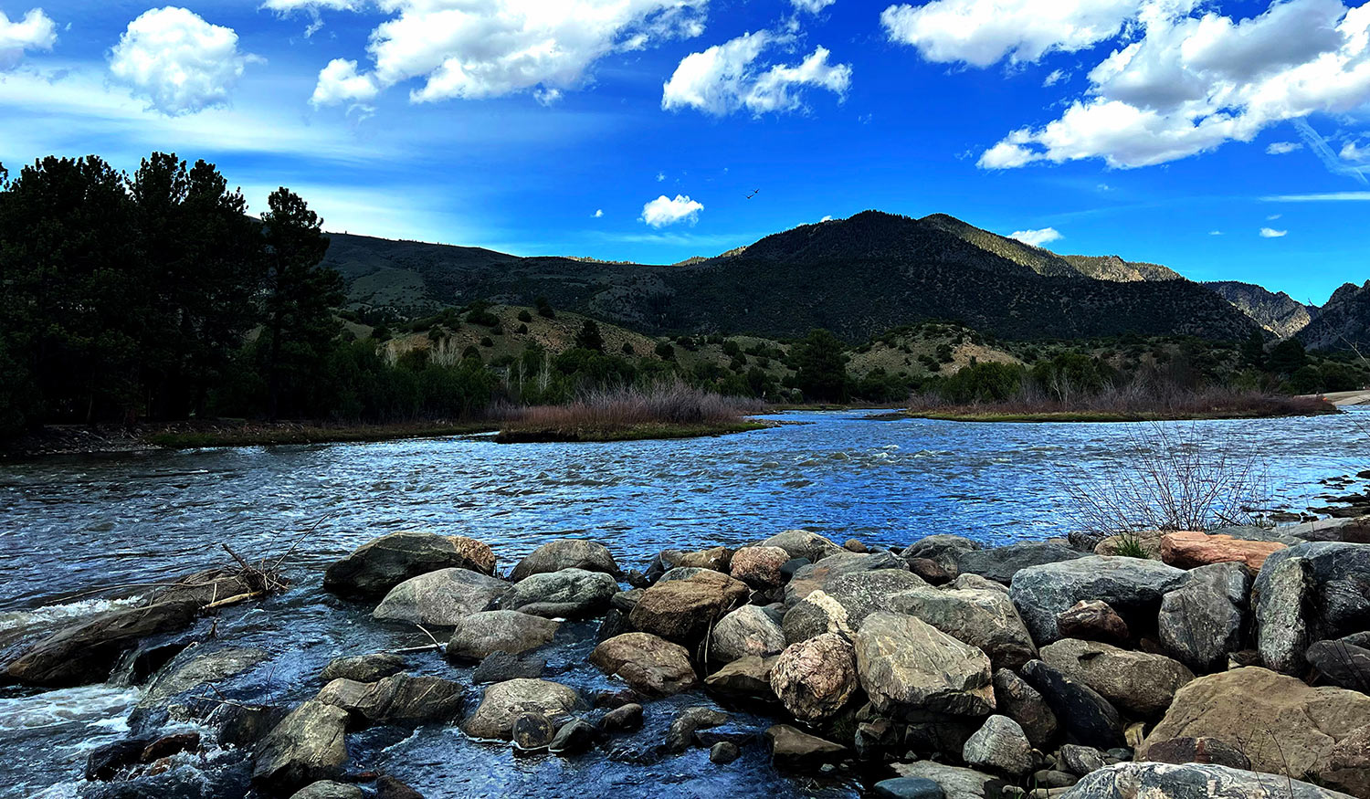
M427 643L418 630L373 622L369 607L319 588L327 563L378 534L473 536L493 547L501 569L567 536L601 541L625 569L643 567L669 547L736 545L790 528L888 547L932 533L1004 544L1066 533L1067 476L1118 463L1145 429L866 417L785 414L775 417L786 422L778 428L678 441L500 445L471 437L0 463L0 637L79 618L136 592L85 596L92 588L155 584L222 565L221 544L262 558L284 554L299 539L286 562L295 587L207 619L216 637L201 644L264 650L259 666L219 688L241 700L295 703L318 691L316 674L334 656ZM1354 413L1169 428L1199 451L1259 454L1271 506L1300 511L1345 492L1323 478L1370 463L1366 422L1370 414ZM563 626L549 678L582 693L611 687L585 665L593 630ZM414 655L411 665L470 677L470 669L433 654ZM0 796L79 795L88 788L78 780L85 752L126 735L138 702L138 689L118 685L0 688ZM455 728L373 729L349 736L349 769L393 773L429 799L606 789L737 798L854 792L841 778L781 776L756 746L722 767L703 750L632 762L660 740L675 710L706 702L690 693L652 703L648 726L618 751L569 761L514 757ZM769 724L740 718L758 729ZM221 767L215 757L185 755L174 772L179 784L201 784Z

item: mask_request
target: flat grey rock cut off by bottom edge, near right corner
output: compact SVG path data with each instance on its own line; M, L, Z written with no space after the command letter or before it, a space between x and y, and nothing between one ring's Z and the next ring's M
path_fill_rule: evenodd
M1307 783L1217 765L1115 763L1093 772L1063 794L1066 799L1345 799Z

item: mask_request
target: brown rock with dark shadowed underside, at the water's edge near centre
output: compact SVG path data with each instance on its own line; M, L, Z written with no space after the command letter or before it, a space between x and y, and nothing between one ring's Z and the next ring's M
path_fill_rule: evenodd
M718 571L700 571L689 580L658 582L627 615L636 629L692 644L733 607L747 602L747 584Z

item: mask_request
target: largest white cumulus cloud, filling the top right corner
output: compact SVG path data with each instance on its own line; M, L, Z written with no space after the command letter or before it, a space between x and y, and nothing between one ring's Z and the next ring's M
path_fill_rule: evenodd
M1058 119L1008 133L981 155L980 166L1092 158L1111 167L1149 166L1232 140L1251 141L1281 121L1297 123L1308 114L1344 112L1370 101L1370 4L1348 10L1338 0L1275 1L1241 21L1215 11L1192 14L1189 0L1133 5L1129 27L1140 38L1121 42L1095 66L1086 93ZM970 38L984 26L997 30L991 21L963 22L962 33ZM1075 41L1082 38L1062 33L1045 48L1014 44L945 55L982 66L996 53L1028 59Z

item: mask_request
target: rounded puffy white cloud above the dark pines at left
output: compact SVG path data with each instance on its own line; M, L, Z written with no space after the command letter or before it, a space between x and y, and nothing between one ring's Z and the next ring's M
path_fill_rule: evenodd
M223 106L249 62L232 27L185 8L153 8L129 23L110 51L110 73L163 114Z

